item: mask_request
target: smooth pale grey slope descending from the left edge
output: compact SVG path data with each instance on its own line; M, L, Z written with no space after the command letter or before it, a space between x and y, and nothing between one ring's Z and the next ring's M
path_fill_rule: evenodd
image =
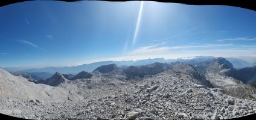
M65 101L68 92L59 87L36 85L21 76L13 76L0 68L0 99Z

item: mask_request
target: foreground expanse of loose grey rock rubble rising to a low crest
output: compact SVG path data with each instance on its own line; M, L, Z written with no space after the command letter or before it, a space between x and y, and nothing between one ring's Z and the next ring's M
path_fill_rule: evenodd
M82 91L82 100L5 98L0 113L26 119L229 119L256 112L255 99L231 97L195 81L191 74L171 70L129 81L98 76L62 86L76 86L69 94Z

